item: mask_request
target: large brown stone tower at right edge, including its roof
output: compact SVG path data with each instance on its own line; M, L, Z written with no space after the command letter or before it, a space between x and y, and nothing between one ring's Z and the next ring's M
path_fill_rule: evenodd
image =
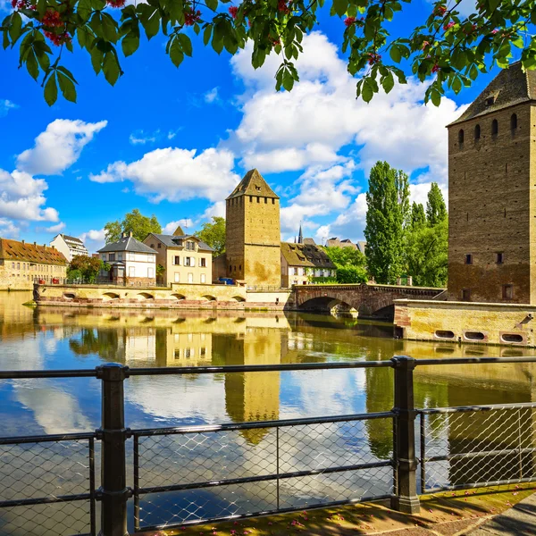
M536 303L536 71L500 71L448 125L448 299Z

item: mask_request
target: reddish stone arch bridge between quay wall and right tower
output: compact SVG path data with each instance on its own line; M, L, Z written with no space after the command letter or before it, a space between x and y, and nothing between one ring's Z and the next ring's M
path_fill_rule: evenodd
M334 308L364 317L392 319L396 299L447 299L445 289L398 285L295 285L295 304L300 311L329 313Z

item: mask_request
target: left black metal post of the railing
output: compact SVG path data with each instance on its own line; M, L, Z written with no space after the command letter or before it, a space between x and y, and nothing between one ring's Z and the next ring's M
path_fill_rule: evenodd
M102 440L101 460L101 531L99 536L128 536L127 501L130 488L126 481L125 428L123 382L129 377L129 367L108 363L96 368L102 384L102 427L97 436Z

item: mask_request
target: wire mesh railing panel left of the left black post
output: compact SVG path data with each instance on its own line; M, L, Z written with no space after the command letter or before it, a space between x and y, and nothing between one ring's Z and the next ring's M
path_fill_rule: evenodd
M92 450L88 439L0 444L0 534L94 532Z

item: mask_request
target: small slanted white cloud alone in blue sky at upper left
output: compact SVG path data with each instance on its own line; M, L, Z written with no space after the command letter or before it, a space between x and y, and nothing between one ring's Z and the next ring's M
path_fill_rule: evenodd
M80 153L108 121L87 123L56 119L41 132L35 146L17 158L17 169L39 175L56 175L75 163Z

